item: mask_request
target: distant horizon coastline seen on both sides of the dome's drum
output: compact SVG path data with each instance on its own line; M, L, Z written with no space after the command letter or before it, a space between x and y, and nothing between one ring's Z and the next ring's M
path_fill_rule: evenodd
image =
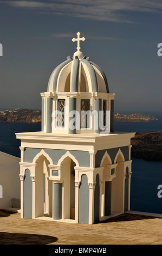
M159 120L146 114L114 114L115 122L151 122ZM0 111L0 123L40 123L41 111L15 108Z

